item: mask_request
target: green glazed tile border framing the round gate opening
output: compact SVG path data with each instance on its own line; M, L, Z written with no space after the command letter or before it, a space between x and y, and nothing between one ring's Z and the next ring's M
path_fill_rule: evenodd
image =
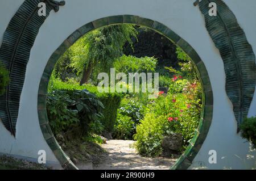
M184 50L185 53L188 54L189 57L191 57L193 64L197 69L200 82L203 85L203 110L201 112L199 128L196 131L195 136L193 137L193 140L191 141L191 144L188 146L187 150L185 150L185 152L172 167L172 169L188 169L188 167L191 166L196 154L199 152L201 146L203 145L203 142L207 137L210 124L212 122L213 92L207 69L205 68L204 62L201 60L196 51L191 47L191 45L189 45L174 31L170 30L170 28L164 26L162 23L146 18L141 18L139 16L118 15L94 20L93 22L87 23L84 26L78 28L60 45L59 48L55 50L55 52L53 52L52 56L48 60L46 68L44 69L38 91L38 116L44 138L64 169L77 169L77 167L71 162L64 151L60 148L55 137L53 136L51 127L49 126L46 112L46 94L49 78L51 77L51 73L60 56L81 36L100 27L122 23L138 24L139 26L151 28L163 36L166 36L169 40L172 41L172 43L179 46Z

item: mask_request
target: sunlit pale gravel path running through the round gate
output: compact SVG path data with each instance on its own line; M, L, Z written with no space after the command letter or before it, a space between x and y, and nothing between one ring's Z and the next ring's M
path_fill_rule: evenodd
M136 153L131 146L134 141L109 140L102 147L108 151L105 161L100 165L93 166L94 170L167 170L170 169L177 159L172 158L146 158ZM88 166L79 166L80 169L88 169Z

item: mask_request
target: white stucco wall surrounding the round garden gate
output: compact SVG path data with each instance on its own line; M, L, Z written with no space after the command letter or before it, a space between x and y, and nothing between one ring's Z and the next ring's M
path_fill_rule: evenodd
M0 0L0 43L10 19L22 2L23 0ZM192 45L207 67L214 96L213 121L208 137L191 168L199 163L209 169L252 167L255 160L246 159L249 145L236 133L232 104L225 92L223 61L205 28L199 7L193 6L193 2L194 0L66 0L66 5L60 7L59 12L51 12L36 37L20 99L16 138L0 123L0 153L37 158L38 150L43 149L47 152L48 161L57 162L44 141L38 122L37 96L44 67L54 50L77 28L106 16L129 14L156 20L171 28ZM256 52L256 24L250 22L256 16L256 11L253 10L256 1L225 2L236 14ZM249 111L249 116L255 115L256 96ZM217 151L217 164L208 163L208 151L212 149Z

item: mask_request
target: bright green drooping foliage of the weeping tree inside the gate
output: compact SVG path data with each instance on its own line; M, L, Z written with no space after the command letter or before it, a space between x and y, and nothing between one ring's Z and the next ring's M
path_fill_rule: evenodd
M126 42L131 45L133 43L131 37L136 38L136 36L137 31L132 25L99 28L87 33L72 45L60 58L58 65L64 69L72 68L73 72L80 75L81 83L87 83L91 75L96 80L100 71L109 73L114 60L122 56L123 45ZM66 71L59 69L56 74L60 75L63 72ZM60 75L60 77L64 76Z

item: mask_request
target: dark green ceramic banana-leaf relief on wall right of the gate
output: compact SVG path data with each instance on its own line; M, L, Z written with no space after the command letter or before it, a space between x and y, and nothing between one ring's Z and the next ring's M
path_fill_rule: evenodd
M209 3L217 4L217 16L209 15ZM239 125L247 116L253 99L256 66L255 55L236 16L221 0L203 0L199 3L210 37L220 50L226 73L226 94L233 104Z

